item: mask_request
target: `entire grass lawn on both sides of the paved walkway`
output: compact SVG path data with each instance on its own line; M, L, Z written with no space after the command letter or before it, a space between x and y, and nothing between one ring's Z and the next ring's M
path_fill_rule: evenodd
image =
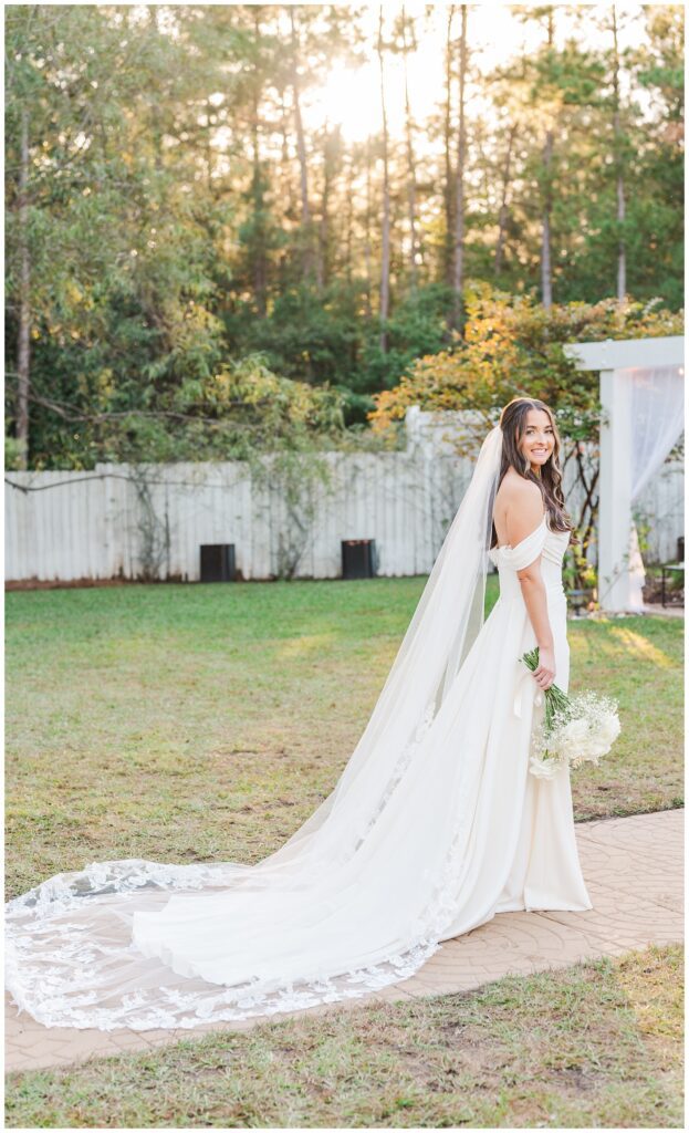
M496 580L490 580L488 607ZM93 860L253 862L334 785L423 579L6 603L8 896ZM576 818L681 804L680 620L571 622L622 735ZM680 952L8 1077L12 1126L681 1124Z

